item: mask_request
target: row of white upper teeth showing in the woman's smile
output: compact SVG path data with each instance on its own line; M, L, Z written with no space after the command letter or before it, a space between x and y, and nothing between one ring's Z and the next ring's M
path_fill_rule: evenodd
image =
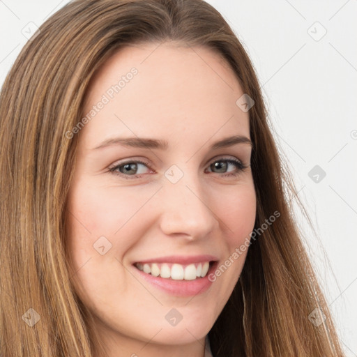
M171 267L170 267L171 266ZM150 263L150 264L136 264L140 271L146 274L151 274L155 277L172 278L173 280L195 280L197 278L204 278L209 269L209 261L198 264L188 264L183 266L181 264L169 263Z

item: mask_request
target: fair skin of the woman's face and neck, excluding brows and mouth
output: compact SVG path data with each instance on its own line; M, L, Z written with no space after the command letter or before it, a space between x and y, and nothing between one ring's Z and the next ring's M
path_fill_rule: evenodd
M256 211L251 169L240 171L221 157L249 165L251 147L210 149L231 135L250 138L248 112L236 105L243 91L212 50L145 43L119 50L102 65L84 115L132 67L137 75L77 134L67 211L77 271L73 284L96 316L108 356L203 357L204 339L234 289L247 251L196 296L168 294L142 279L132 264L210 254L220 265L249 238ZM116 136L165 139L169 146L93 149ZM137 164L132 174L122 168L123 176L109 172L128 159L149 165ZM211 165L217 161L227 168ZM172 165L183 174L176 183L165 176ZM234 172L237 176L225 176ZM93 248L101 236L112 244L105 255ZM172 308L182 315L176 326L165 319Z

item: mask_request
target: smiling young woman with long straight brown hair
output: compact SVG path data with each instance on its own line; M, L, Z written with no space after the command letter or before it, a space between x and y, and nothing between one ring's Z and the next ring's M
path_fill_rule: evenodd
M0 113L1 355L343 356L255 72L212 6L68 3Z

